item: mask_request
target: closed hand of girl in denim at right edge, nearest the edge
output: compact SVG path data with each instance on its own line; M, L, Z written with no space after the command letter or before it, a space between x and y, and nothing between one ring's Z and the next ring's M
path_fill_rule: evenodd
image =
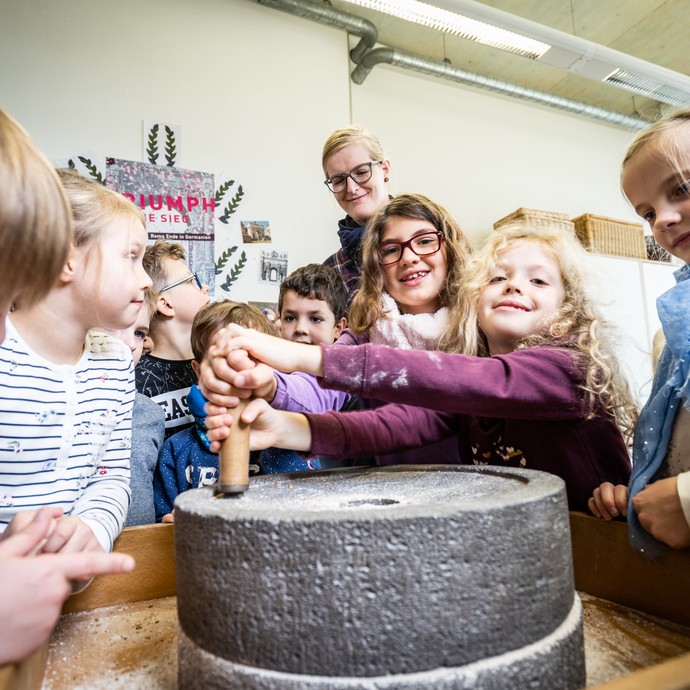
M632 500L640 524L653 537L673 549L690 546L690 525L678 496L678 478L660 479L646 486Z

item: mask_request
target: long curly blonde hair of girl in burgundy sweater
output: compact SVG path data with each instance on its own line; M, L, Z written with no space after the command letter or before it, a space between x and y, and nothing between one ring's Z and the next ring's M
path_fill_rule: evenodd
M522 338L515 349L551 346L576 353L585 372L581 385L585 418L591 419L603 408L630 441L637 421L637 406L610 345L609 325L586 289L590 277L587 253L572 234L557 227L534 228L517 223L502 226L490 235L481 252L467 266L464 313L458 312L452 318L452 327L464 333L465 353L489 355L486 338L478 325L479 298L499 256L521 241L538 244L556 262L565 296L544 329Z

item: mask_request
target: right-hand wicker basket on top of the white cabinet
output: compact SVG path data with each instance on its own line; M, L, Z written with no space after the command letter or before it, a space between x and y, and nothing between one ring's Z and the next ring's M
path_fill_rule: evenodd
M573 218L573 223L577 238L591 252L631 259L647 258L647 245L639 223L626 223L591 213Z

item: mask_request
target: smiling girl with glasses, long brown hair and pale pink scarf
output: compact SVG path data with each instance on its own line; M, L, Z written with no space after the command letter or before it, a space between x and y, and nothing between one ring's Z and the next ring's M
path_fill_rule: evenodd
M458 286L469 254L462 230L441 206L420 194L392 199L369 223L361 288L350 308L349 329L337 344L461 351L462 334L457 328L449 332L448 324L450 315L462 311ZM229 393L230 387L210 367L202 365L202 372L201 386L210 399L232 404L218 395ZM223 375L232 382L235 373L226 368ZM241 394L261 397L276 409L326 412L347 402L346 395L322 388L309 374L280 374L260 365L245 377ZM382 403L369 399L363 404ZM459 462L457 442L444 440L422 452L376 458L379 465L428 462Z

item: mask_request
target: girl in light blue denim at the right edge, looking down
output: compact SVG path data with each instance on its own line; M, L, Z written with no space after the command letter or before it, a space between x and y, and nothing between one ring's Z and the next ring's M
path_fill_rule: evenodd
M690 108L640 132L628 148L621 186L654 239L684 261L677 285L657 299L666 337L633 442L630 483L603 484L589 502L597 517L626 515L630 543L655 556L663 544L690 546Z

